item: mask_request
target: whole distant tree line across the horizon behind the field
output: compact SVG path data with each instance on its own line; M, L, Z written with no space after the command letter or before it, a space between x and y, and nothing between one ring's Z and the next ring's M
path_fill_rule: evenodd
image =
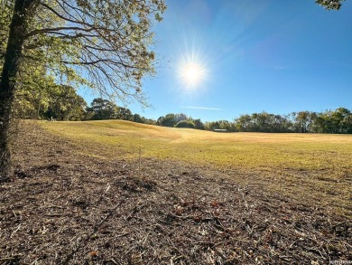
M169 113L153 120L116 106L113 101L97 98L87 102L69 86L47 85L45 90L19 90L16 95L19 118L55 120L124 119L144 124L173 128L222 129L229 132L328 133L352 134L352 112L346 108L324 112L299 111L287 115L267 113L244 114L234 121L202 122L180 113Z

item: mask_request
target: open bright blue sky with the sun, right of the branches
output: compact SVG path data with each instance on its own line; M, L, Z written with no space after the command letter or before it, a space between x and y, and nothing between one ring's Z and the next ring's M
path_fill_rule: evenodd
M127 106L134 113L211 121L352 109L352 1L339 11L314 0L166 3L154 27L158 74L144 80L153 108Z

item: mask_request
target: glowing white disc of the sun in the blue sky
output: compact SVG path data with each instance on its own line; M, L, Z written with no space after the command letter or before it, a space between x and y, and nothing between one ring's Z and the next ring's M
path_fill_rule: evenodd
M205 79L206 70L198 62L186 62L181 65L180 77L183 85L195 89Z

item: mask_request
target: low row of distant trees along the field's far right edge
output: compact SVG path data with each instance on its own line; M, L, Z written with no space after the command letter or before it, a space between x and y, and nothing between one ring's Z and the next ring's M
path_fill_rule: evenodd
M185 114L167 114L158 118L157 125L176 128L227 130L229 132L327 133L352 134L352 112L338 108L324 112L300 111L288 115L267 113L244 114L233 122L218 120L203 123Z

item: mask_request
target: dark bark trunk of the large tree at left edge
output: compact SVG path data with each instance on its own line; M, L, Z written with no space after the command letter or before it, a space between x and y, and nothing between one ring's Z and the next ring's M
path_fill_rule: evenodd
M0 80L0 182L11 176L10 127L14 105L15 78L23 52L24 33L29 8L35 0L15 0L14 14Z

